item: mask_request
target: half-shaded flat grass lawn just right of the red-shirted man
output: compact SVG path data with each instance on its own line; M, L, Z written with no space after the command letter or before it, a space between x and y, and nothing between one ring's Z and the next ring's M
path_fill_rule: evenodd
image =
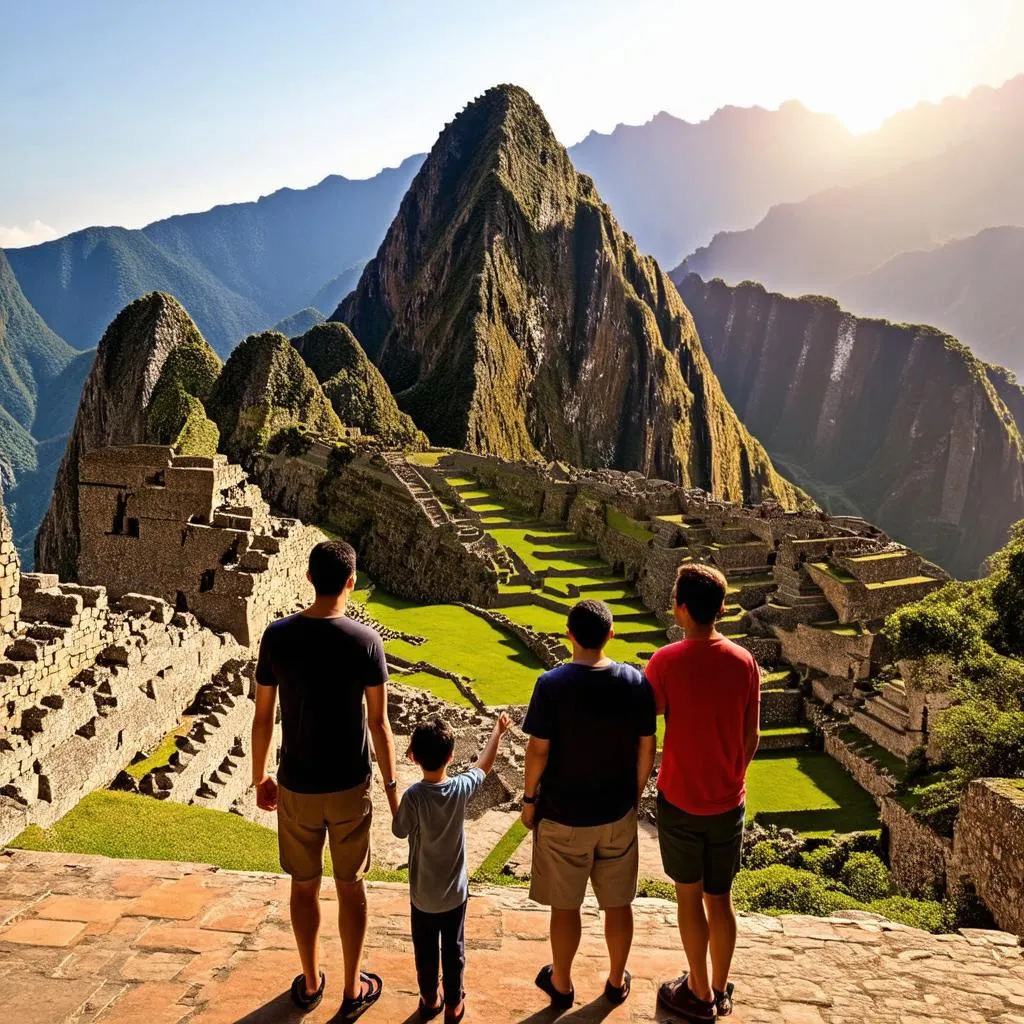
M810 835L878 828L874 801L819 751L764 754L746 776L748 819Z

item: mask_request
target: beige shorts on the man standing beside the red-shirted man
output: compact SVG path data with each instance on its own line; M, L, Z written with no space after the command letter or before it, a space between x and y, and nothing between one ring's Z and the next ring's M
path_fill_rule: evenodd
M636 811L611 824L584 828L545 818L534 834L529 898L575 910L583 905L589 880L603 909L629 906L636 898L639 871Z

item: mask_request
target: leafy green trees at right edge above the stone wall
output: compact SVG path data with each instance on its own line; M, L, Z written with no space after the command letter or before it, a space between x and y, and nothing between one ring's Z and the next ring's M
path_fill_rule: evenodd
M901 608L884 634L894 657L935 659L952 681L952 706L933 727L945 771L919 780L908 801L949 833L971 779L1024 778L1024 521L988 575Z

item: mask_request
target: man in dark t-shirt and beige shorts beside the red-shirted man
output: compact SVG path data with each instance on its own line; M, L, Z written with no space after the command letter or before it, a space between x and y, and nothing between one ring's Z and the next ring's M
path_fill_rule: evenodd
M541 676L522 726L530 737L522 811L534 829L529 895L551 907L552 964L537 984L559 1010L574 1000L572 961L588 881L605 913L605 995L620 1004L630 993L637 806L654 765L656 720L643 675L604 654L611 627L601 601L572 608L572 660Z

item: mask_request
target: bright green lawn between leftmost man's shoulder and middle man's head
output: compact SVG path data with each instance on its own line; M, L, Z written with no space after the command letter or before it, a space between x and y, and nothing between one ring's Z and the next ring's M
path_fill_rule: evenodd
M390 640L387 650L468 676L485 703L526 703L544 671L518 640L458 605L416 604L378 588L367 610L385 626L427 637L418 647Z

